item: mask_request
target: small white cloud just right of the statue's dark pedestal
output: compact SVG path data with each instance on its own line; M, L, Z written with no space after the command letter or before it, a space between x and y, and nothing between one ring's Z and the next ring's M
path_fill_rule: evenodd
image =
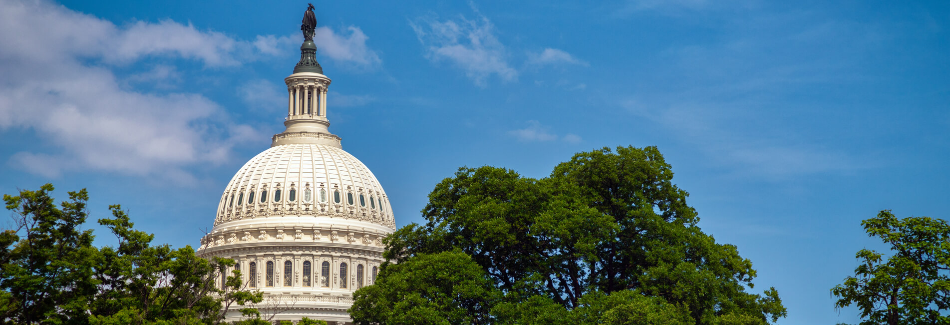
M327 27L317 28L314 31L317 54L357 67L372 67L383 62L375 51L367 47L366 41L370 37L362 29L351 26L347 30L350 31L349 36L337 34Z

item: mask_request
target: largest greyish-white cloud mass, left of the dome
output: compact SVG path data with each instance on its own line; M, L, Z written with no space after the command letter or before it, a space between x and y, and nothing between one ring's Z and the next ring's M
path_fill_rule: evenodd
M183 168L224 162L237 143L266 139L230 122L201 95L129 90L108 65L85 63L130 64L165 55L232 66L251 59L249 42L172 21L120 29L47 2L3 1L0 44L0 129L28 128L37 144L47 144L37 146L57 148L10 157L8 163L30 172L93 169L185 180ZM173 68L157 67L131 79L175 75Z

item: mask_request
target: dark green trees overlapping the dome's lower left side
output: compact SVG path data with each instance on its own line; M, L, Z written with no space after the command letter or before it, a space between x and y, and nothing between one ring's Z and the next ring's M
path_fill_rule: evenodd
M239 272L216 283L231 259L198 258L190 246L153 245L119 205L99 220L116 247L92 245L85 189L58 208L49 192L5 195L16 229L0 235L0 322L16 324L217 324L222 307L259 302ZM255 311L256 312L256 311Z

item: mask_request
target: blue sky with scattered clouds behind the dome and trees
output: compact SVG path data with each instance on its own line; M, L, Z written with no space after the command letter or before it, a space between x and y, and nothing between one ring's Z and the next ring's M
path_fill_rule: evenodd
M331 130L399 226L459 166L540 178L657 145L704 231L778 289L780 323L829 324L857 321L828 289L882 247L861 220L950 218L950 3L315 6ZM86 187L92 219L121 203L157 241L197 244L283 129L305 8L0 0L0 192Z

